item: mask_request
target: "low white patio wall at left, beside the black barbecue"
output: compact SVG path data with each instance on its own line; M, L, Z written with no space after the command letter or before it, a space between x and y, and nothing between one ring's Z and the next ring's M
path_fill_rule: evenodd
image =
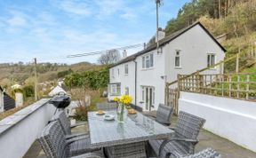
M55 108L41 99L0 121L0 157L20 158L41 134Z

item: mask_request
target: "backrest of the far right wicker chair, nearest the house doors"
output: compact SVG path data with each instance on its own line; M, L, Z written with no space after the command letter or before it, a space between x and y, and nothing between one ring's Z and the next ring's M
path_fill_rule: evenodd
M159 104L156 113L156 122L163 124L171 124L172 107L166 107L164 104Z

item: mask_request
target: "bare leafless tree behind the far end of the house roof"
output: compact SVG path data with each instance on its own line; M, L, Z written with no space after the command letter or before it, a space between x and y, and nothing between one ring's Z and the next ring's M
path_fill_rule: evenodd
M121 59L120 52L118 50L110 50L105 54L102 54L98 59L98 62L102 65L115 64Z

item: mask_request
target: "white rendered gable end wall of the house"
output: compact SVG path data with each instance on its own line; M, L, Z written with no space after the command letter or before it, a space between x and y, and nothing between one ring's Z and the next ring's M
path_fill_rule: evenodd
M176 50L180 50L181 67L175 67ZM178 36L172 42L164 46L165 69L167 82L177 80L177 75L188 75L199 69L207 67L207 54L215 53L216 62L220 62L225 57L224 51L206 34L203 28L196 25L187 32ZM205 71L204 74L219 74L220 67Z

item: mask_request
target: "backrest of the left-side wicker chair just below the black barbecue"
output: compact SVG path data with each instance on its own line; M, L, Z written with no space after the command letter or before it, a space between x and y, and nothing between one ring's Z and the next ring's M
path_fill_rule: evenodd
M53 120L57 119L59 119L60 125L64 130L65 135L71 134L70 121L68 119L68 116L65 114L65 111L60 111L53 116Z

